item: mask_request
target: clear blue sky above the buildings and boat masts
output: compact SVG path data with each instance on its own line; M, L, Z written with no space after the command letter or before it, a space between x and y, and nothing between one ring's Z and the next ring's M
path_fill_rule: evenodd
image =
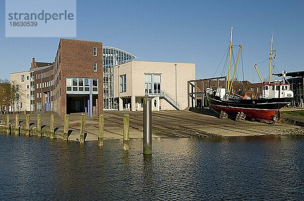
M274 72L304 70L303 9L304 1L78 0L76 38L125 49L140 61L195 63L199 79L213 76L233 25L233 43L243 43L245 79L258 82L253 64L267 60L272 31ZM6 38L4 0L0 13L0 78L28 70L32 57L54 61L59 38ZM268 61L258 69L266 78Z

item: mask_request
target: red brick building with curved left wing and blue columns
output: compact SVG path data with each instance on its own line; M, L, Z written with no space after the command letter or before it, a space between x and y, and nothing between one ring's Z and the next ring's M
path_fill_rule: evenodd
M54 63L33 58L31 110L102 114L102 58L102 42L73 39L60 39Z

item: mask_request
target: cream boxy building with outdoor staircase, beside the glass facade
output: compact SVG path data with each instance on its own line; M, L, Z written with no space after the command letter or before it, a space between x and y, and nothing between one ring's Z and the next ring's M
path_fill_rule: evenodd
M151 96L152 110L187 107L187 81L195 79L195 64L131 61L114 67L115 97L119 110L143 110L143 98Z

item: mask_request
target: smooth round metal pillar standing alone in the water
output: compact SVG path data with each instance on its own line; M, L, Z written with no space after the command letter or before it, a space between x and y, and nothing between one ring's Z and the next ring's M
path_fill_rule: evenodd
M143 100L143 154L152 154L152 111L151 98Z

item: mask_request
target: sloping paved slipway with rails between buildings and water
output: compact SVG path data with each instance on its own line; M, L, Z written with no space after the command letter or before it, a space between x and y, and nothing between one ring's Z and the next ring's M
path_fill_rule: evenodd
M283 109L297 110L297 109ZM50 113L41 113L43 130L50 129ZM55 113L54 113L55 114ZM142 138L142 111L104 111L104 139L123 139L123 116L130 116L130 138ZM31 114L31 126L36 124L36 113ZM286 134L301 128L298 123L304 122L304 117L283 114L288 123L269 124L265 122L237 122L234 119L219 119L218 114L209 109L193 109L191 111L160 111L152 113L153 137L209 137L209 136L252 136ZM6 120L6 115L0 119ZM15 115L11 115L14 121ZM20 114L20 121L24 121L24 114ZM297 122L296 125L294 122ZM21 122L22 123L22 122ZM55 118L55 134L63 133L63 120L57 115ZM69 121L69 140L80 138L80 113L71 114ZM97 140L98 117L86 117L86 141ZM293 132L289 132L293 133Z

